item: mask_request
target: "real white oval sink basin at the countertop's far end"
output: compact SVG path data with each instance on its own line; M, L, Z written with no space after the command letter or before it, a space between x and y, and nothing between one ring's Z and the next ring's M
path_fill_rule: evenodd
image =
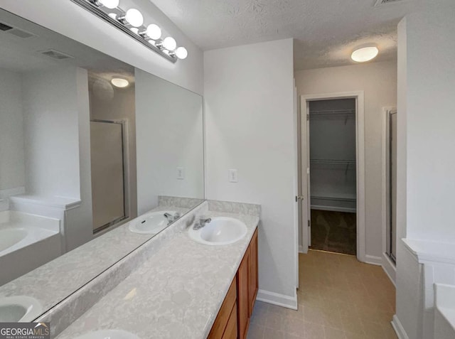
M225 245L239 241L247 234L247 226L233 217L213 217L200 230L190 227L191 239L201 244Z

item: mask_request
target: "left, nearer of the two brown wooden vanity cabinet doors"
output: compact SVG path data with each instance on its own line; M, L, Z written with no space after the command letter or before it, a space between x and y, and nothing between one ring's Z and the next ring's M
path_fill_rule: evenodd
M239 339L247 338L250 323L250 247L247 248L245 257L237 271L237 321Z

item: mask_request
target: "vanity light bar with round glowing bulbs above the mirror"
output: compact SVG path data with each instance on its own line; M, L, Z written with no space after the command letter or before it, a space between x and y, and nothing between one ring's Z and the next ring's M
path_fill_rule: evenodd
M71 0L98 18L117 27L123 33L139 41L163 58L176 63L178 59L185 59L188 51L178 47L176 41L170 36L161 39L161 28L155 24L144 26L144 17L137 9L124 11L119 8L119 0Z

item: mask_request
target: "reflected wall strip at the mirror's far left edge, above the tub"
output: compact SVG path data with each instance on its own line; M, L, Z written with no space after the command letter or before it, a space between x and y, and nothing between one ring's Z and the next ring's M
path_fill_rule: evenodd
M0 68L0 190L25 185L21 74Z

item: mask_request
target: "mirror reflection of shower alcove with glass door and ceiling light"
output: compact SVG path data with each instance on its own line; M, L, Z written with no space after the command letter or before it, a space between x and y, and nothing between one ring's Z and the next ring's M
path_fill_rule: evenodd
M93 232L136 217L134 75L90 72Z

